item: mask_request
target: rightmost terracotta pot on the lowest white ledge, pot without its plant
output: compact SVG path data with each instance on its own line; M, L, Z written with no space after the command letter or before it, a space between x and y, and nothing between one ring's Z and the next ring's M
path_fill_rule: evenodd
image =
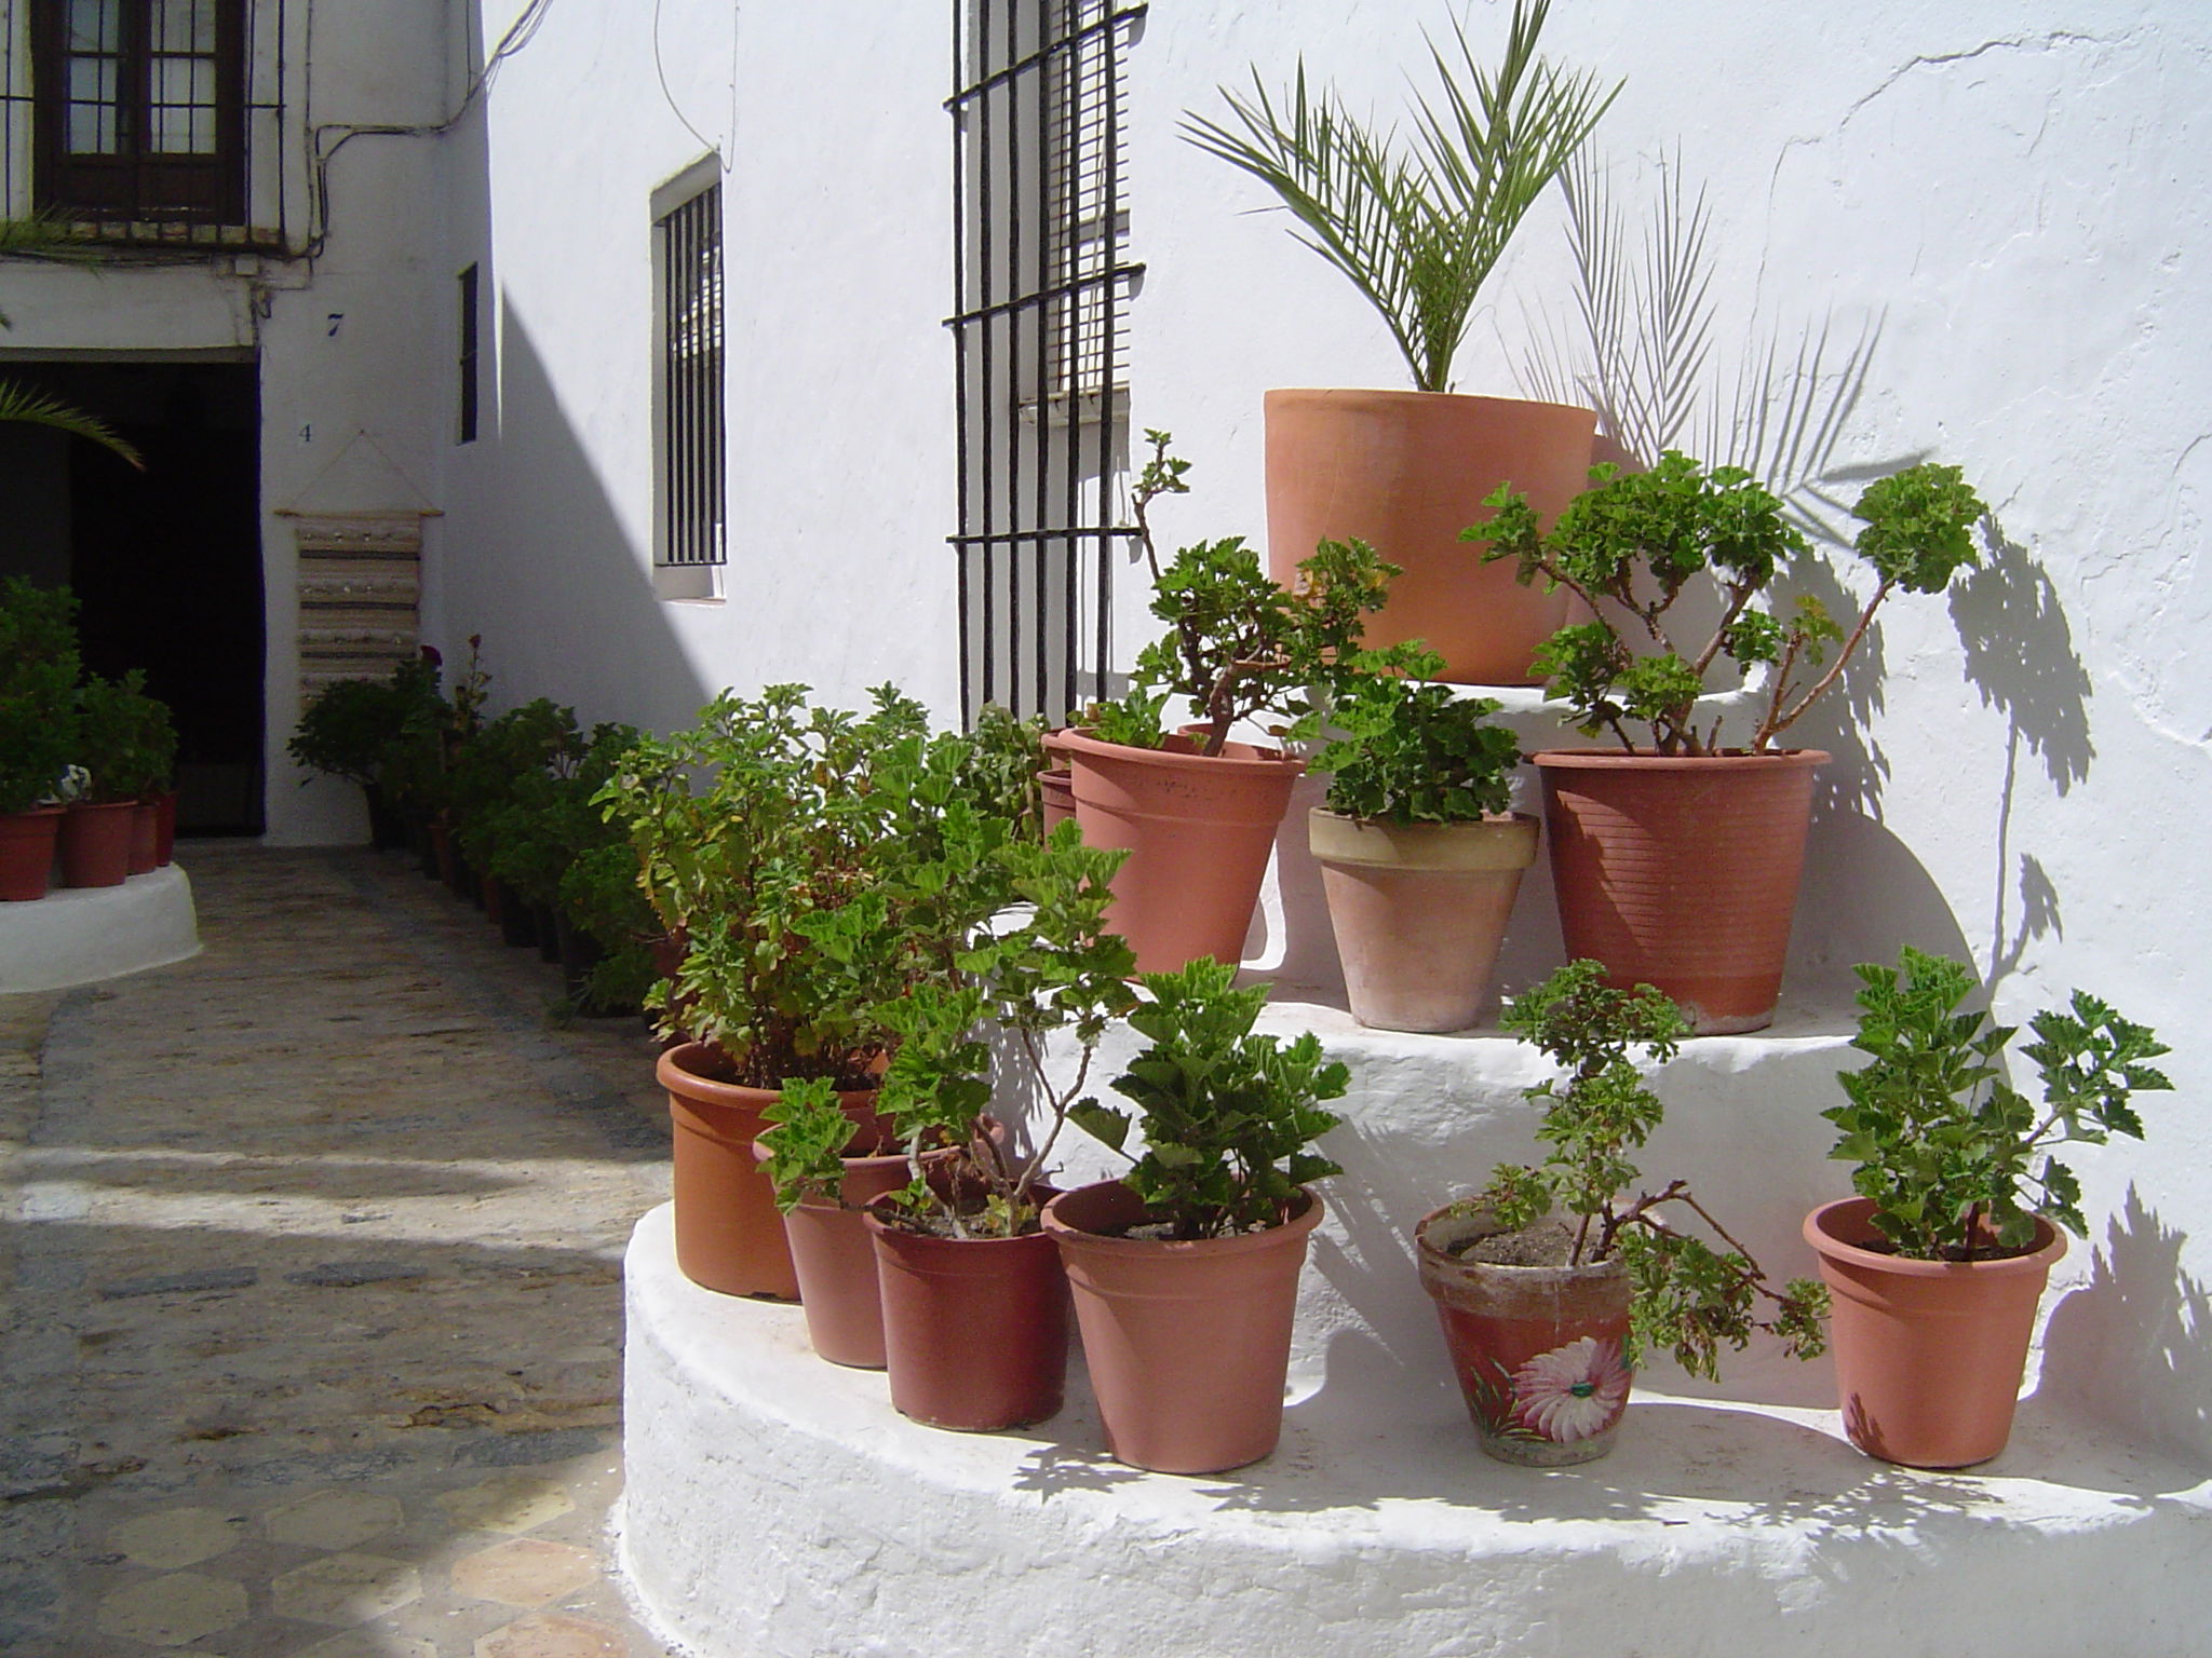
M2004 1450L2035 1304L2066 1234L2035 1222L2008 1260L1907 1260L1880 1253L1869 1198L1805 1216L1829 1291L1829 1349L1843 1430L1869 1457L1907 1468L1969 1468Z

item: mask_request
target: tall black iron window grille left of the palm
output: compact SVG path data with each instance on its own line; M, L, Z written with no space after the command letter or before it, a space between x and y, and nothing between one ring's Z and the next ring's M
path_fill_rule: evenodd
M1104 694L1128 466L1126 62L1146 7L956 0L962 703Z

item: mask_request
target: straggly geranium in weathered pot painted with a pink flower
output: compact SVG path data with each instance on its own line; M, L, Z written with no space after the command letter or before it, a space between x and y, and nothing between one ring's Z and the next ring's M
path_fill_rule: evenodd
M1544 1108L1537 1138L1551 1156L1500 1165L1484 1192L1413 1231L1482 1448L1535 1468L1601 1457L1646 1349L1703 1377L1754 1329L1796 1357L1818 1355L1820 1284L1776 1289L1688 1180L1639 1189L1628 1154L1663 1108L1635 1054L1674 1057L1690 1032L1674 1004L1648 984L1608 986L1597 962L1568 962L1515 997L1502 1024L1566 1070L1526 1090ZM1668 1209L1697 1216L1714 1242L1670 1225Z

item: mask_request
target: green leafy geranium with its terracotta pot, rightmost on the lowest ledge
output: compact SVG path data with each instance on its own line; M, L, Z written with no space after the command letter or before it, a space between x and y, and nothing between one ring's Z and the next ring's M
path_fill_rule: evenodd
M2004 1081L2015 1026L1960 1012L1973 973L1905 948L1860 966L1858 1037L1823 1112L1854 1198L1805 1218L1836 1300L1843 1428L1860 1450L1913 1468L1989 1461L2013 1428L2035 1304L2066 1231L2088 1236L2081 1187L2053 1152L2143 1136L2130 1103L2172 1083L2148 1026L2075 990L2037 1012L2042 1101ZM2064 1231L2062 1231L2064 1227Z

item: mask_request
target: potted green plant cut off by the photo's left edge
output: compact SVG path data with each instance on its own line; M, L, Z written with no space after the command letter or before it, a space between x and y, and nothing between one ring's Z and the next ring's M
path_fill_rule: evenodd
M46 895L77 736L75 610L69 588L0 581L0 902Z

